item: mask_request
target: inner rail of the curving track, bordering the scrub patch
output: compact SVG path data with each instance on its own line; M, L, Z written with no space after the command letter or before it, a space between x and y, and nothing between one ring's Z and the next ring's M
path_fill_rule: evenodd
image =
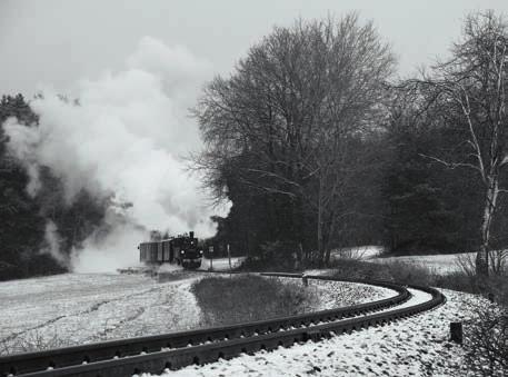
M295 274L266 275L291 278L301 277L301 275ZM360 282L360 280L358 280L358 282ZM361 282L366 281L361 280ZM27 374L37 370L43 370L48 367L60 368L78 365L83 361L96 363L108 360L113 357L124 357L139 355L141 353L159 351L162 348L180 348L186 347L189 344L196 345L206 341L222 340L225 338L231 339L242 336L251 336L256 333L263 334L291 326L309 326L310 324L317 324L320 321L338 320L341 318L381 310L395 305L399 305L409 298L409 292L407 289L401 288L397 285L384 281L371 284L394 289L398 292L398 295L387 299L355 305L346 308L321 310L311 314L282 318L272 318L249 324L237 324L231 326L205 328L191 331L178 331L163 335L109 340L81 346L9 355L0 357L0 376L8 376L9 374Z

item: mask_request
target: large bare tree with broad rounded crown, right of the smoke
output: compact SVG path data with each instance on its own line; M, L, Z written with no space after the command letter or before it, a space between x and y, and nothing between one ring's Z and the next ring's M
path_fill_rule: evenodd
M302 212L315 218L317 256L327 261L349 212L340 206L357 166L348 148L379 121L394 65L357 14L276 28L229 79L207 86L195 110L209 183L220 195L221 169L235 167L245 186L285 197L296 224Z

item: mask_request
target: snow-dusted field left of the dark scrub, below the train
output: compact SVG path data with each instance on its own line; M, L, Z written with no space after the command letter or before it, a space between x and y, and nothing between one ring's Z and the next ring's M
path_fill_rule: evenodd
M190 285L141 275L64 274L0 282L0 354L195 328Z

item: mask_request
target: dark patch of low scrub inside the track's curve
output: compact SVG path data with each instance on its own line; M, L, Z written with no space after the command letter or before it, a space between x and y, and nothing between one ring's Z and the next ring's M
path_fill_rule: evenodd
M302 311L315 298L300 282L260 276L209 277L191 287L205 326L220 326Z

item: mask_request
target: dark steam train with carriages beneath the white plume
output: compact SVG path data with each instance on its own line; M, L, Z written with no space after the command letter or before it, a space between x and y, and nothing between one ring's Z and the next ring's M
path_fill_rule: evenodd
M147 265L165 262L181 265L183 268L201 266L202 250L198 247L195 232L159 241L141 242L138 246L139 260Z

